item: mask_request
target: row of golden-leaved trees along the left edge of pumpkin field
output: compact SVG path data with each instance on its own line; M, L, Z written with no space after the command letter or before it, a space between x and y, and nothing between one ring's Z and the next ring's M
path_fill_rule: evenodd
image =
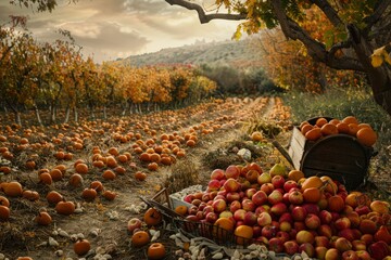
M78 120L78 109L88 108L94 117L97 108L121 105L123 114L157 109L184 102L198 102L210 95L216 83L190 66L142 67L121 63L97 65L84 58L68 31L60 31L64 40L39 43L24 28L25 20L13 17L0 26L0 105L12 110L21 123L21 112L50 112L50 122L58 110L65 110L64 121Z

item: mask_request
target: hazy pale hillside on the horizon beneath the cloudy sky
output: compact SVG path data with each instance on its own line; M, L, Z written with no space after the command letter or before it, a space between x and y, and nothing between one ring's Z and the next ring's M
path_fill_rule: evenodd
M162 49L153 53L131 55L121 62L138 67L156 64L229 64L242 67L254 64L260 58L260 52L250 40L227 40Z

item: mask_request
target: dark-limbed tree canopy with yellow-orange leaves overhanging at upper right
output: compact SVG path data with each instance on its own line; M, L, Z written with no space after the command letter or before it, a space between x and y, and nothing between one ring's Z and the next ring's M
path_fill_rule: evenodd
M216 0L214 12L191 0L165 1L197 11L201 23L243 20L234 38L279 26L287 39L302 42L315 61L336 69L365 73L375 101L391 115L386 49L377 55L386 63L378 62L376 67L371 63L374 50L391 42L391 0ZM316 10L324 23L312 23L310 10Z

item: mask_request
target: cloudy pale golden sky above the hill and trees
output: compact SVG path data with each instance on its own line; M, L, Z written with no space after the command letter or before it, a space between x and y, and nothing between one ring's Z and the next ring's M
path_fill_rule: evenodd
M9 21L9 15L27 16L27 27L34 37L49 42L61 38L59 28L70 30L83 47L84 56L101 63L197 41L227 40L240 23L200 24L195 11L164 0L78 0L76 4L58 0L58 3L51 13L37 13L0 0L0 24Z

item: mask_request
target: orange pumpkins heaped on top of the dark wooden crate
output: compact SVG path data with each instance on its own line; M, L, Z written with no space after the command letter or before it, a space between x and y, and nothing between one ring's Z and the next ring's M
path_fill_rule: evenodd
M365 146L373 146L378 138L370 125L360 122L354 116L346 116L342 120L337 118L327 120L325 117L319 117L314 125L303 121L300 123L300 131L310 141L331 134L349 134Z

